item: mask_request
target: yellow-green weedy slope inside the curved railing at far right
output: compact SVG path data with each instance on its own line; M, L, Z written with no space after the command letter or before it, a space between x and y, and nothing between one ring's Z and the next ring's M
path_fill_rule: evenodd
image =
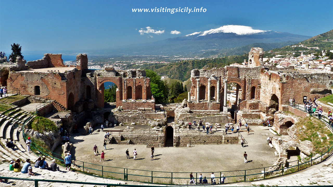
M297 140L309 140L313 144L314 152L320 152L322 149L330 145L332 142L331 137L333 134L326 126L316 118L305 117L302 118L296 124L295 134L297 135ZM319 137L318 133L321 137ZM330 139L327 139L325 134L327 134ZM320 139L323 139L321 142Z

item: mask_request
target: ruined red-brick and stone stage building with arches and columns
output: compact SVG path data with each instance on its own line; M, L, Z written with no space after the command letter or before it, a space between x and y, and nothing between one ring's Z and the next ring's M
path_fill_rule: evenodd
M124 71L112 66L91 70L86 54L77 55L76 66L64 65L61 54L45 54L43 59L29 62L18 58L15 66L1 70L0 80L9 90L18 89L20 94L29 95L29 102L50 101L50 106L39 109L40 115L66 111L51 118L70 132L78 125L87 133L89 126L104 123L106 119L112 125L149 124L156 131L135 136L119 134L112 137L111 143L124 139L155 146L240 143L241 136L225 136L225 123L237 123L240 119L243 124L260 125L262 119L270 119L273 130L287 134L295 120L276 121L275 118L280 111L292 110L286 105L290 98L302 103L303 99L331 94L331 72L264 67L262 55L261 48L252 48L247 66L192 70L190 92L181 104L155 104L150 79L144 70ZM106 82L117 86L114 108L104 102ZM234 101L227 98L231 83L235 86ZM174 118L174 122L167 123L167 118ZM187 128L188 122L200 119L212 124L220 134L205 136ZM125 126L124 132L131 130Z

